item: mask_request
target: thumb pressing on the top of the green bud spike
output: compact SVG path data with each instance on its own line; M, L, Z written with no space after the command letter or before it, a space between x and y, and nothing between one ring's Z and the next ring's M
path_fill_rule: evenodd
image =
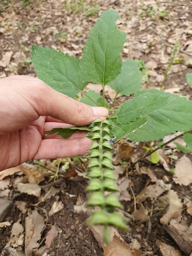
M43 104L38 111L41 116L51 116L77 126L88 125L98 117L102 121L108 117L108 109L81 103L49 86L46 87L44 95L44 98L41 97L38 101Z

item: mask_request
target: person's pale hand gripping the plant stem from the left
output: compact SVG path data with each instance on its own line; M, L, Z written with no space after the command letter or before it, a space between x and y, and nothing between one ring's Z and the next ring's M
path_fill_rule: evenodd
M0 170L32 159L54 159L86 154L91 140L86 131L68 139L44 135L54 127L89 125L108 110L91 107L63 95L37 78L0 79Z

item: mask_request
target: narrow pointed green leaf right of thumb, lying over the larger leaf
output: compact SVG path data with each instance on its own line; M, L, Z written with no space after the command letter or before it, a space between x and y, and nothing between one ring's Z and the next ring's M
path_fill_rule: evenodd
M172 101L172 97L161 97L152 93L141 94L134 99L125 101L120 108L110 117L117 119L117 123L128 124L139 117L150 114Z

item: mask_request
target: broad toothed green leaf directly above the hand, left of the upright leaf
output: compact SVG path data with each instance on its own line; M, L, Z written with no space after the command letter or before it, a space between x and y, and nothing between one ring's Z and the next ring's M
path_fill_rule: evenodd
M74 98L87 86L79 79L80 60L48 47L32 46L32 62L37 76L53 89Z

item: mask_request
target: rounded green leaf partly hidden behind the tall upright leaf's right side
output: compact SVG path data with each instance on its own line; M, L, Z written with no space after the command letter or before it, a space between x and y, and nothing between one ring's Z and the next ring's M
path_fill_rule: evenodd
M142 86L141 72L136 61L133 59L123 61L121 73L108 84L117 94L130 96L131 93L136 93Z

